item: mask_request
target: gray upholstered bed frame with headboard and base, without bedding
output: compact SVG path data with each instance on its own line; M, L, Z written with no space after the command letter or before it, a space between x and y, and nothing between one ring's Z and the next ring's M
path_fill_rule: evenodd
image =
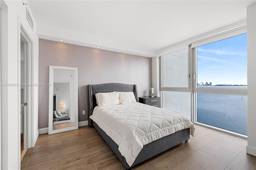
M100 85L88 85L88 124L90 127L94 127L99 134L102 136L102 138L106 141L108 146L112 149L112 151L116 154L116 156L120 159L122 164L126 169L130 169L131 167L144 162L145 160L148 160L149 158L152 158L153 156L156 156L157 154L160 154L182 142L186 142L190 138L190 128L184 128L182 130L179 130L177 132L174 132L172 134L169 134L167 136L164 136L162 138L159 138L154 141L150 141L148 144L145 144L138 155L136 155L135 160L131 163L130 160L126 161L125 156L122 156L118 144L108 135L109 132L105 129L102 130L100 126L96 122L92 121L90 119L90 116L92 115L94 108L97 106L96 103L96 96L97 93L109 93L109 92L133 92L136 102L139 102L138 99L138 90L136 85L127 85L127 84L121 84L121 83L107 83L107 84L100 84ZM151 107L148 105L144 105L141 103L132 103L132 105L138 105L139 107ZM124 106L122 106L124 107ZM126 106L125 106L126 107ZM128 107L128 106L127 106ZM98 109L98 106L95 108L95 110ZM150 108L152 109L152 108ZM154 109L154 108L153 108ZM160 109L160 108L158 108ZM194 128L194 126L193 126ZM108 134L107 134L108 133ZM123 152L122 152L123 153ZM124 155L124 154L123 154Z

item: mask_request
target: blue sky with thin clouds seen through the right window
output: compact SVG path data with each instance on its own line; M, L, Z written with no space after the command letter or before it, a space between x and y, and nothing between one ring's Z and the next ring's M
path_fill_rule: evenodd
M197 47L198 83L247 85L246 34Z

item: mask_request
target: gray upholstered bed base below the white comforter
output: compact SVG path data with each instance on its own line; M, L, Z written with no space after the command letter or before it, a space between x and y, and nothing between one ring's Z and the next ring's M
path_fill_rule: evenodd
M190 138L189 128L184 130L180 130L158 140L155 140L149 144L143 146L142 150L138 154L132 166L129 166L126 162L126 159L121 155L118 150L118 145L94 122L92 121L92 125L99 132L102 138L106 141L108 146L112 149L112 151L116 154L116 156L120 159L122 164L126 169L130 169L133 166L152 158L182 142L188 141Z

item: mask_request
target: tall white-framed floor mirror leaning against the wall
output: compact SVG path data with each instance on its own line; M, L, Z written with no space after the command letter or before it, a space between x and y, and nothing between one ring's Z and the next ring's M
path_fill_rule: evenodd
M77 68L49 66L48 134L78 129Z

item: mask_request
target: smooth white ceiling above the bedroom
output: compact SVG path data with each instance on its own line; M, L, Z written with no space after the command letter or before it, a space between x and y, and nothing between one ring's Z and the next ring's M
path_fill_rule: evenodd
M39 38L134 55L246 20L255 0L28 0Z

